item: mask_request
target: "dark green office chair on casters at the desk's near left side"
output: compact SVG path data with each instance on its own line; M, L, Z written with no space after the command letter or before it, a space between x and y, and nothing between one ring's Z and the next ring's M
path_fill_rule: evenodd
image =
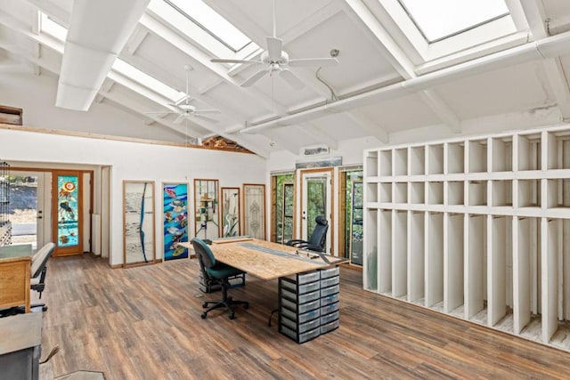
M226 307L230 312L230 319L235 319L235 313L233 311L232 305L242 304L244 309L248 309L249 303L246 301L235 301L232 297L228 297L228 287L230 287L231 277L244 274L244 271L240 271L237 268L233 268L230 265L216 262L216 258L212 253L212 250L208 245L201 239L191 239L192 247L194 247L194 252L198 256L199 268L202 271L202 276L204 279L211 281L211 283L220 284L222 287L222 299L216 301L205 301L202 304L203 308L208 308L210 303L214 303L208 308L208 310L203 311L200 317L206 319L208 317L208 312L220 307Z

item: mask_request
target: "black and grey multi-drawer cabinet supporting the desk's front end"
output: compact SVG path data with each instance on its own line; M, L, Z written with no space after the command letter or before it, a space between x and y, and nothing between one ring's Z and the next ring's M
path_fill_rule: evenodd
M279 279L279 331L298 344L338 327L338 267Z

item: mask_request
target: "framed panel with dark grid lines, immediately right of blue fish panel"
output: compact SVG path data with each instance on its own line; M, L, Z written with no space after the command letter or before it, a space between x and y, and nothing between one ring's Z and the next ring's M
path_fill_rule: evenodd
M220 210L217 180L194 180L196 213L194 236L199 239L220 237Z

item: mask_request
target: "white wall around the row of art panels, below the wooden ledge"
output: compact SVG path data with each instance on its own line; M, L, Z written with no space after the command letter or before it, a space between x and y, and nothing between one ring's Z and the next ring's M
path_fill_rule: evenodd
M162 182L188 182L194 178L219 179L220 187L265 183L265 159L251 154L189 149L126 141L32 133L0 129L0 158L8 162L32 161L111 166L110 264L123 261L124 180L155 182L157 257L162 255ZM97 189L95 189L96 191ZM192 203L192 200L190 200ZM189 210L192 207L189 206ZM189 212L191 223L193 213ZM190 224L193 225L193 224Z

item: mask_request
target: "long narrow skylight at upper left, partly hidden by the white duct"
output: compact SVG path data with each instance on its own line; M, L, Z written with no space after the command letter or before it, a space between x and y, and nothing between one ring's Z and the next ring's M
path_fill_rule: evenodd
M60 40L62 43L65 42L68 34L67 28L62 27L60 24L50 19L45 13L41 14L41 20L42 32L53 36L54 38ZM178 101L184 96L184 93L175 90L169 85L165 85L158 79L151 77L150 75L142 72L140 69L136 69L134 66L126 63L126 61L123 61L119 58L117 58L113 63L112 69L117 71L119 74L133 80L139 85L143 85L155 93L159 93L171 101Z

